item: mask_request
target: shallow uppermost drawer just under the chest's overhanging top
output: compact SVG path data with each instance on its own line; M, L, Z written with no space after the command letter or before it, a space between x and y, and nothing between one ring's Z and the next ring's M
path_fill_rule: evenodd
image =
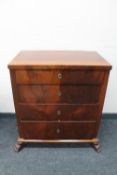
M17 84L102 84L104 71L16 70Z

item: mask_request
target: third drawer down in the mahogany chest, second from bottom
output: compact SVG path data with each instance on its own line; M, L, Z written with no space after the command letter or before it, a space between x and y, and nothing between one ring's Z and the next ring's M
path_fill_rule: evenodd
M19 105L23 121L96 121L99 105Z

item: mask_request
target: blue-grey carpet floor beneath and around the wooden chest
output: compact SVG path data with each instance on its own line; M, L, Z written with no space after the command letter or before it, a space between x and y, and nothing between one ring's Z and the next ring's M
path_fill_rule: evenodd
M0 115L0 175L116 175L116 119L102 119L101 153L88 144L31 144L15 153L15 116Z

